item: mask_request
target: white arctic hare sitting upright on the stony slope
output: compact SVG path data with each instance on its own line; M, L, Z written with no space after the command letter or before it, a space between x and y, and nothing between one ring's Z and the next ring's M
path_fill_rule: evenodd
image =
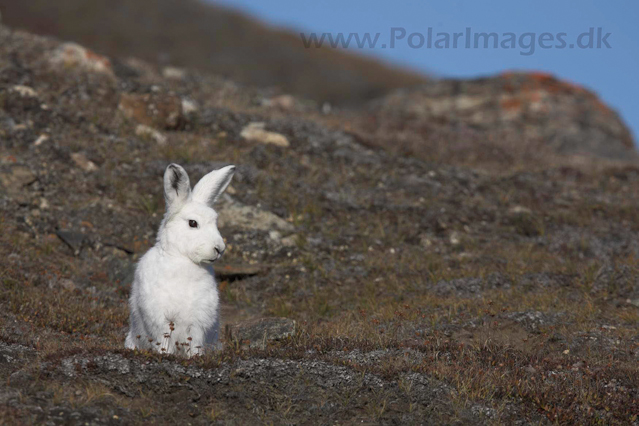
M190 357L215 347L219 299L211 264L225 245L213 203L234 172L235 166L214 170L191 192L181 166L166 168L166 214L155 246L135 271L127 348Z

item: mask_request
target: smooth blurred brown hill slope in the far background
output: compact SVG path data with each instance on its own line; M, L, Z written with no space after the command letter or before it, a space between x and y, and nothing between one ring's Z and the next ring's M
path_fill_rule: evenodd
M79 42L112 58L196 68L319 102L359 103L423 76L335 49L305 49L204 0L0 0L6 25Z

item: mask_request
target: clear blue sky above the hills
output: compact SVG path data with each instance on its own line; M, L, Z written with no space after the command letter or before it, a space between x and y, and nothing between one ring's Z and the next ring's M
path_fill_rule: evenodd
M639 2L636 1L430 1L430 0L217 0L215 3L246 12L275 27L295 32L381 33L374 49L355 49L389 63L398 64L435 76L473 77L504 70L540 70L586 86L619 113L639 135ZM406 29L406 37L390 49L391 28ZM433 29L433 41L439 32L495 32L503 41L503 33L520 37L535 33L535 51L515 49L428 49L411 48L411 33L427 36ZM601 27L610 48L570 49L579 34ZM542 33L566 33L564 49L539 47ZM396 32L396 34L399 34ZM595 30L596 36L596 30ZM451 36L452 37L452 36ZM531 36L525 36L528 46ZM546 36L547 37L547 36ZM414 36L413 45L419 43ZM582 42L586 42L582 39ZM384 43L386 42L386 43ZM301 40L300 40L301 43ZM381 44L387 48L382 48ZM461 43L461 42L460 42Z

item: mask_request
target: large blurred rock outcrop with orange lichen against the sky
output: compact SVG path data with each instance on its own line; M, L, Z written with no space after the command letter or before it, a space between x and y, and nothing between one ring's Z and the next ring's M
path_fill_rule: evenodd
M589 90L544 73L432 80L386 96L372 106L372 115L376 133L401 123L402 133L428 129L456 144L470 135L446 129L467 128L478 133L473 138L509 138L515 146L540 145L559 154L636 157L631 133L615 111Z

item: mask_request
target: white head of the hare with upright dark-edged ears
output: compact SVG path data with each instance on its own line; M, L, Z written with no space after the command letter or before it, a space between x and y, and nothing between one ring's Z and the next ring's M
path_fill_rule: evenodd
M191 191L186 171L169 164L164 172L166 215L158 234L165 250L195 263L212 263L222 256L226 246L217 229L213 203L231 182L234 172L235 166L214 170Z

